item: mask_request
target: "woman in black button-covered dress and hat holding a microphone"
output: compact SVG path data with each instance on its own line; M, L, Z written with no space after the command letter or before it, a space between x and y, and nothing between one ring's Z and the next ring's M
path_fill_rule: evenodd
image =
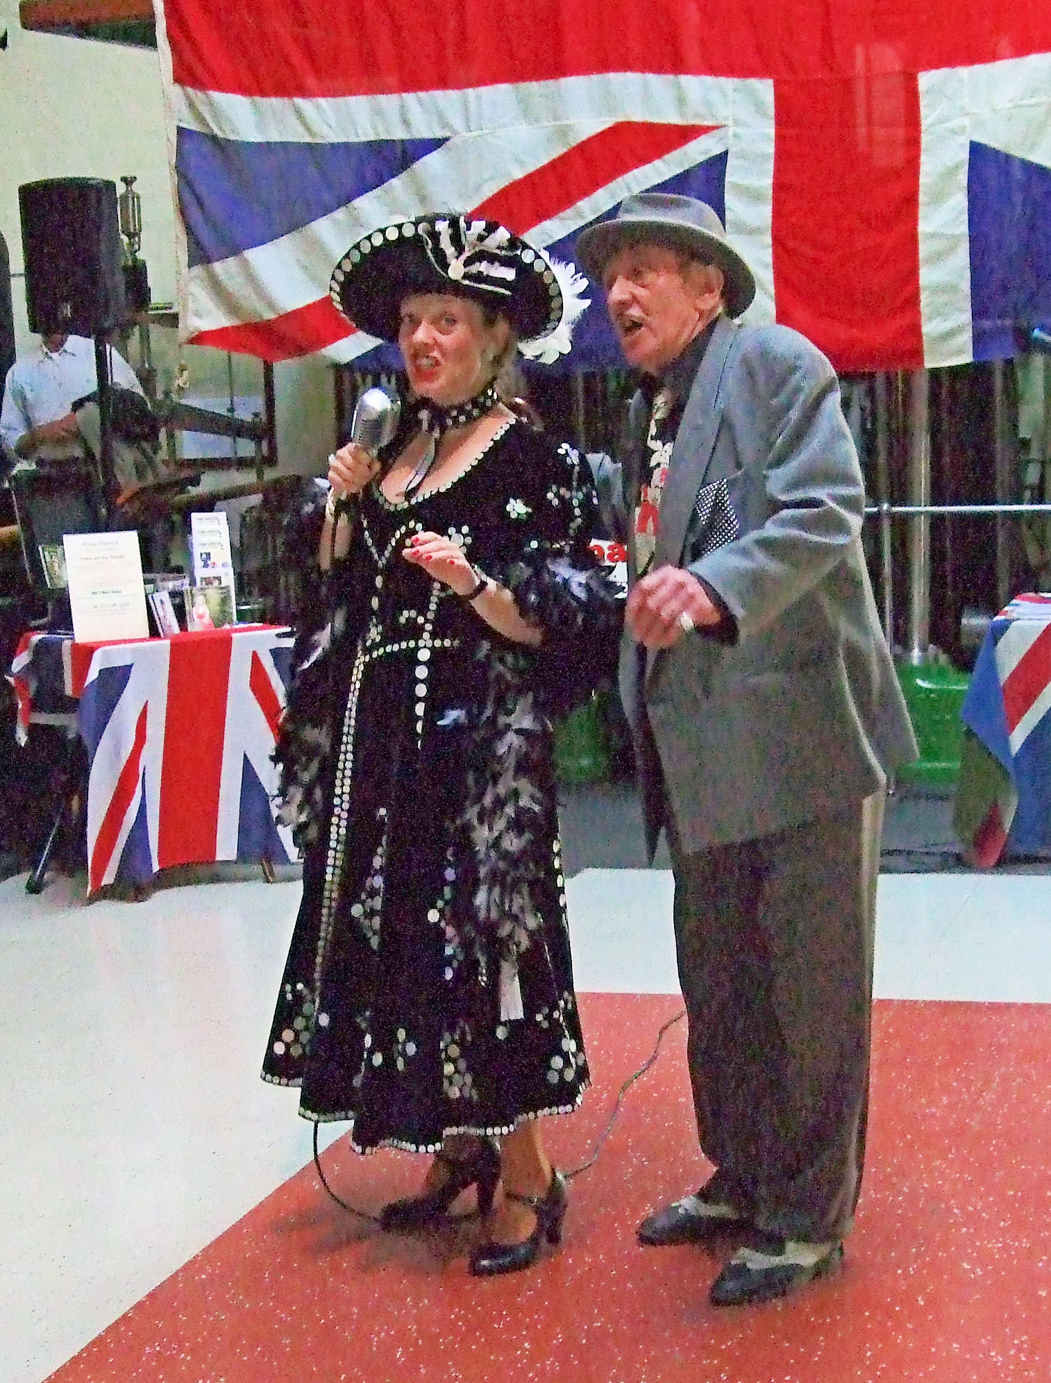
M588 550L586 462L496 386L516 349L568 350L582 286L454 213L394 223L336 267L333 301L397 342L413 404L382 465L332 458L329 620L279 748L306 862L264 1079L300 1086L307 1119L351 1120L360 1152L431 1155L386 1229L440 1223L473 1185L478 1275L559 1242L566 1182L539 1116L588 1086L550 718L603 671L620 611Z

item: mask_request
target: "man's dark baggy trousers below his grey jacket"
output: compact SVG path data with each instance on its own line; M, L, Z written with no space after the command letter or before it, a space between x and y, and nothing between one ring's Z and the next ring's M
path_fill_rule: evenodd
M672 841L701 1149L725 1199L792 1239L841 1238L860 1191L884 801L698 853Z

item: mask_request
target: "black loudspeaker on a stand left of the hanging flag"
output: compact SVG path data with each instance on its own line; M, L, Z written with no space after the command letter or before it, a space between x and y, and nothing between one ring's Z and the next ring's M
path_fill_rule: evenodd
M116 184L94 177L18 189L29 329L95 336L126 317Z

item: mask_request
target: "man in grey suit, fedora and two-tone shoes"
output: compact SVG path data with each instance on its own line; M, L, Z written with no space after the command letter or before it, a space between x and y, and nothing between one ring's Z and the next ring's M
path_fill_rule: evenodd
M621 694L716 1169L639 1238L736 1235L711 1300L759 1301L834 1268L853 1218L886 773L915 741L828 361L736 321L752 274L704 202L631 196L577 254L649 382L596 480L629 552Z

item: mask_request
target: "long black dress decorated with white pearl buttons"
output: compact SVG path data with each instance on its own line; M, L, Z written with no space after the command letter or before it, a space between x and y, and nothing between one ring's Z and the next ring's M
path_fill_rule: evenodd
M263 1077L358 1151L433 1152L567 1113L588 1086L550 716L615 656L586 462L519 420L447 485L360 499L278 757L306 849ZM512 643L398 553L462 542L545 628Z

